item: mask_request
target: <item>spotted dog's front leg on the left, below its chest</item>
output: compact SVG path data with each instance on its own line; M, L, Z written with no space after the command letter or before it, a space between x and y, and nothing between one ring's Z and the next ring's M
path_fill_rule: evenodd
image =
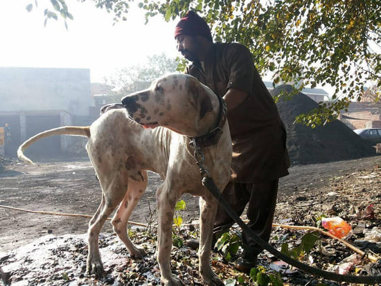
M179 278L172 276L170 269L172 223L177 199L177 194L170 190L168 184L164 181L163 185L157 190L157 208L159 211L157 261L160 267L161 284L166 286L184 285Z

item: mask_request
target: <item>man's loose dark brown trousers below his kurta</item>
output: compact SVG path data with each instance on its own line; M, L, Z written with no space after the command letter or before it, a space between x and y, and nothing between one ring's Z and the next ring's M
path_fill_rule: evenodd
M272 230L272 220L276 206L276 195L278 193L278 179L265 183L229 183L224 189L222 196L229 202L238 215L245 211L247 206L247 226L260 238L269 241ZM233 225L233 220L226 213L222 206L218 206L213 232L218 237L222 233L229 231ZM244 251L243 258L256 259L256 256L263 250L254 242L252 238L242 233Z

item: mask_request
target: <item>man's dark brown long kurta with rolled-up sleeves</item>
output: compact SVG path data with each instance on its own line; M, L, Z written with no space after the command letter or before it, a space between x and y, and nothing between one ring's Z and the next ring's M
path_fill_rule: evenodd
M218 94L241 89L249 96L228 112L233 141L232 180L259 183L288 175L285 127L269 91L241 44L213 44L202 64L193 62L188 73Z

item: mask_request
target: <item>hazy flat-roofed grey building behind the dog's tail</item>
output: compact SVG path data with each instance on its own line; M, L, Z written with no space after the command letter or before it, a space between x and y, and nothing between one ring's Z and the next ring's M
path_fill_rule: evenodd
M62 125L88 125L91 100L89 69L0 67L0 127L9 124L8 156L30 136ZM44 138L33 154L67 150L69 136Z

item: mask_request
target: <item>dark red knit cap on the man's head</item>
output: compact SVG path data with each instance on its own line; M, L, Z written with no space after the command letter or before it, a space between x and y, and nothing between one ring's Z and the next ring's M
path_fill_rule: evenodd
M177 23L175 28L175 38L178 35L200 35L213 42L211 29L208 24L206 24L206 21L191 10L186 12L186 15L180 19L179 23Z

